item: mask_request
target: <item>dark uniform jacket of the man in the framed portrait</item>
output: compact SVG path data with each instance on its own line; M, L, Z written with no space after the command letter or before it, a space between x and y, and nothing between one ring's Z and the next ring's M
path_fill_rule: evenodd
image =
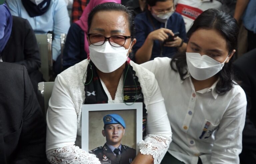
M115 154L107 144L93 149L90 153L95 154L101 164L130 164L136 156L136 150L126 145L121 145L120 161L117 160Z

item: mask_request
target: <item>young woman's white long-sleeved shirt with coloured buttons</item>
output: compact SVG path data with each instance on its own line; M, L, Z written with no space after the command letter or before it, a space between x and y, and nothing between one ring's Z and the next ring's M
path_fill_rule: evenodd
M155 74L165 99L172 127L168 152L186 164L239 164L242 131L245 123L246 96L233 84L224 95L211 87L195 91L190 74L181 80L170 67L169 58L155 58L142 64Z

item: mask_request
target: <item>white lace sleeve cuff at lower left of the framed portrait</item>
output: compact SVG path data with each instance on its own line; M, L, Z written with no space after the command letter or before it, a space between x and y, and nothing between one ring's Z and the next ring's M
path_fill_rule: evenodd
M78 146L65 146L47 154L47 159L51 164L100 164L94 154L90 154Z

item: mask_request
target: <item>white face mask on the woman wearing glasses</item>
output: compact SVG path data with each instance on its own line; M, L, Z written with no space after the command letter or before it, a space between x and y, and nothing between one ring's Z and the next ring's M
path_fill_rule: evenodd
M113 42L111 44L117 45ZM90 45L90 59L101 72L110 73L117 70L127 61L127 54L130 47L128 49L124 47L113 47L109 44L109 41L106 41L101 46Z

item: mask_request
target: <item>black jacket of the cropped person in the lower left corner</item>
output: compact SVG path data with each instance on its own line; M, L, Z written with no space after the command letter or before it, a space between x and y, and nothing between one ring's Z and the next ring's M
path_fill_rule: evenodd
M46 124L24 66L0 62L0 163L45 163Z

